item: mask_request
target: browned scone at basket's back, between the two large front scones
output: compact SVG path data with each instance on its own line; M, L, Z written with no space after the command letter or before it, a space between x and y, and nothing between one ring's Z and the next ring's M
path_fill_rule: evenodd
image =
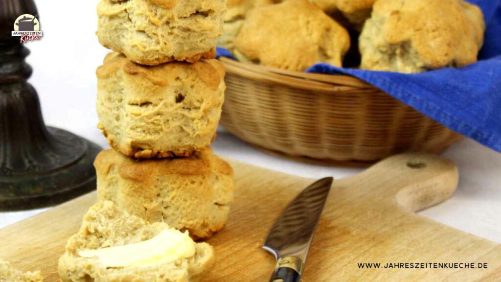
M372 6L377 0L311 0L326 13L341 13L358 31L370 18Z

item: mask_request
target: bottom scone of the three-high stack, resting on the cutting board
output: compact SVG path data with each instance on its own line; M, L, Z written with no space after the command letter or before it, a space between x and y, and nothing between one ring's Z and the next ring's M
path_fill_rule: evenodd
M106 150L94 166L98 200L111 200L148 221L164 221L200 239L228 219L233 171L210 148L190 158L141 161Z

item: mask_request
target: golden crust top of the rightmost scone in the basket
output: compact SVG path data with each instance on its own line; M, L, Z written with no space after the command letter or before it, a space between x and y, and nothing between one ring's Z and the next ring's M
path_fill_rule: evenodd
M410 43L432 69L476 62L485 30L480 9L462 0L380 0L370 21L379 26L384 42Z

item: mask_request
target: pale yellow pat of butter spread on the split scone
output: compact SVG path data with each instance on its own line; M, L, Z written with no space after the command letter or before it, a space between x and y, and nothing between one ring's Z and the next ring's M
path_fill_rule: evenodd
M123 246L78 252L82 257L97 257L104 267L148 267L195 255L195 242L188 232L165 229L155 237Z

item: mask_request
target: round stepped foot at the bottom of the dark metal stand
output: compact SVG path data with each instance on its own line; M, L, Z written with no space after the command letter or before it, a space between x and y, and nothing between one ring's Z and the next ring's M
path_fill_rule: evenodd
M0 210L52 206L96 189L93 163L101 148L71 132L54 127L48 129L60 145L78 154L72 154L73 162L59 168L0 176Z

